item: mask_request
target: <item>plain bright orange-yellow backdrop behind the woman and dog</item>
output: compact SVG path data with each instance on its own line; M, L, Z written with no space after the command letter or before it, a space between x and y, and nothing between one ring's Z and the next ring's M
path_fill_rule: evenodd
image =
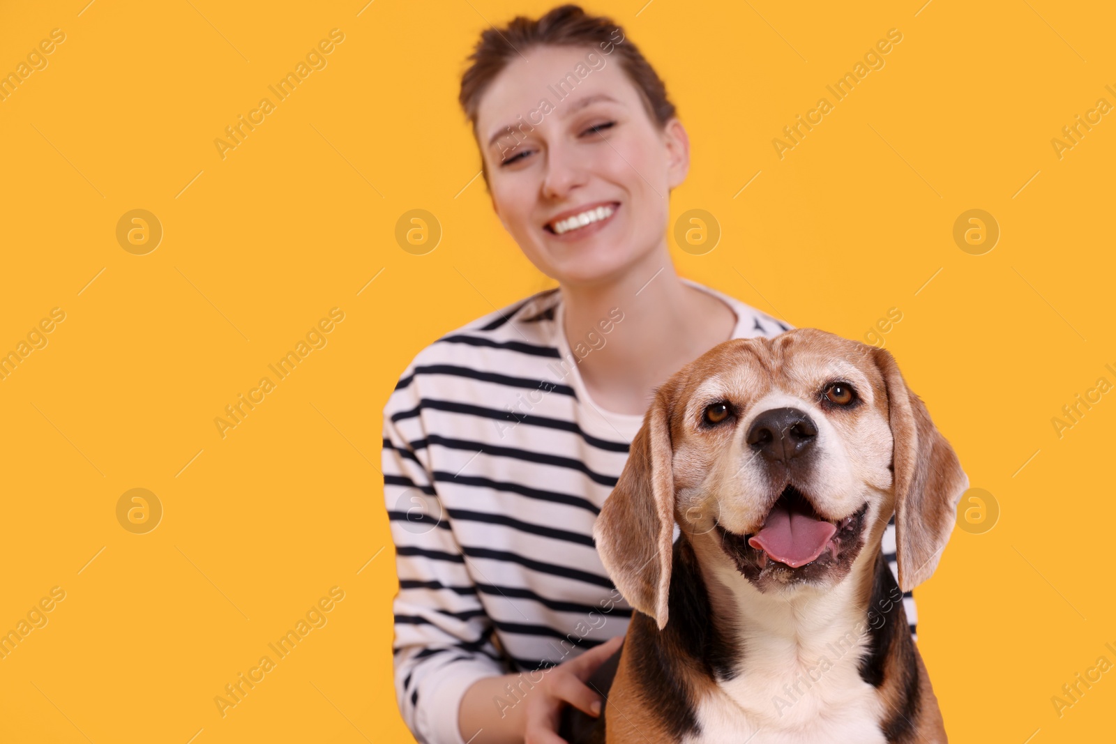
M552 286L473 180L456 107L479 31L550 6L86 2L0 9L0 73L65 33L0 100L0 352L65 313L0 379L0 631L65 592L0 659L0 738L411 741L391 678L381 414L419 349ZM916 590L952 740L1109 737L1113 673L1060 717L1051 697L1116 663L1116 403L1060 437L1051 418L1116 383L1116 123L1061 157L1051 139L1116 104L1116 12L586 7L625 27L689 129L672 219L704 210L721 238L702 255L672 238L680 273L852 338L902 312L883 342L1000 512L959 526ZM893 28L885 66L780 160L772 139ZM331 29L326 66L222 158L214 139ZM116 236L136 209L163 232L142 255ZM412 209L441 225L424 255L394 236ZM1001 231L981 255L953 239L971 209ZM214 418L333 308L325 346L222 437ZM162 506L143 534L117 519L132 489ZM333 587L326 624L222 717L213 698Z

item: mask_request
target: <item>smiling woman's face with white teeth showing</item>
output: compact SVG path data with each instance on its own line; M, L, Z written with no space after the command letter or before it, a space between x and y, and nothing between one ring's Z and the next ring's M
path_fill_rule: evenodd
M670 191L690 164L682 124L671 119L660 131L618 61L599 49L525 55L530 61L510 62L478 108L504 228L564 284L608 280L656 252L665 257Z

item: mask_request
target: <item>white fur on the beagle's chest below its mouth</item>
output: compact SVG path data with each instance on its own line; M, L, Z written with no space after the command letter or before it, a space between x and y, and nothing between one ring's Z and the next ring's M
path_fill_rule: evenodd
M849 610L850 591L846 582L793 606L738 596L738 674L699 703L701 732L686 744L884 744L879 698L859 674L867 626Z

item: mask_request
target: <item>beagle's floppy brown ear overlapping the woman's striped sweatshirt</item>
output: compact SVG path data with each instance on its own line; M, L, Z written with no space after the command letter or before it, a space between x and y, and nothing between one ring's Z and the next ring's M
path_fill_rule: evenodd
M616 588L660 630L666 626L674 542L673 383L655 390L616 487L593 525L597 552Z

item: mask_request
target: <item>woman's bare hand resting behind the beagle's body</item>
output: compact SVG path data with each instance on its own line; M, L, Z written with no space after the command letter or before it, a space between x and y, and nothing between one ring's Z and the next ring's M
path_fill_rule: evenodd
M585 682L608 659L624 640L623 636L609 638L575 659L564 661L542 674L542 682L527 694L527 726L523 744L566 744L558 736L558 725L565 705L590 716L598 716L604 700Z

